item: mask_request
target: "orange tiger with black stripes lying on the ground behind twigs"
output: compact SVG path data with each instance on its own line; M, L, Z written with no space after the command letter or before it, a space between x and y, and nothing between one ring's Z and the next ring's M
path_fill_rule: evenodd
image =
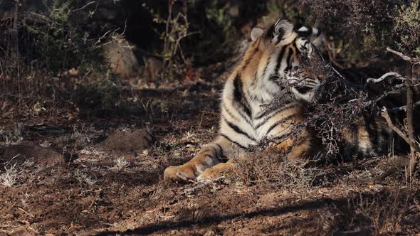
M251 31L251 45L224 84L220 102L219 134L191 160L164 170L165 181L204 181L218 178L233 168L230 158L263 139L284 137L271 148L288 153L290 160L315 156L321 141L310 127L288 135L307 119L305 107L316 103L322 81L300 70L301 58L310 60L320 48L323 35L317 28L279 18L266 29ZM287 90L282 106L268 109L275 96ZM381 124L382 125L382 124ZM383 125L382 125L383 126ZM390 133L391 131L389 131ZM345 136L364 153L373 152L369 127L361 125Z

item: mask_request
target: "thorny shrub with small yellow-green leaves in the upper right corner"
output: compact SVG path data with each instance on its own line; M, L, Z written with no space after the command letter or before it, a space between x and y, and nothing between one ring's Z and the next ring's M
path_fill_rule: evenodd
M417 1L300 0L335 43L343 65L362 65L367 57L384 55L390 47L419 57L420 9ZM337 59L332 58L332 59Z

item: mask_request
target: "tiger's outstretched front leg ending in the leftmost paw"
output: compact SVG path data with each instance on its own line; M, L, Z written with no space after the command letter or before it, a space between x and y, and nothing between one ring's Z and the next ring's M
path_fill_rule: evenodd
M223 136L204 146L193 159L181 166L169 166L164 171L165 181L195 180L207 168L216 166L224 158L226 151L231 149L232 143Z

